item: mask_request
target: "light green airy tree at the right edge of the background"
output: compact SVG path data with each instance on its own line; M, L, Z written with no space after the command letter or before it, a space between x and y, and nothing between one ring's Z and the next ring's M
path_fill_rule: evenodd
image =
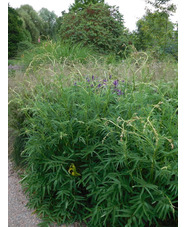
M178 40L176 25L170 21L170 15L176 12L176 6L170 0L146 0L151 5L146 14L138 20L137 31L131 34L138 50L151 49L156 57L172 55L178 59ZM152 8L153 7L153 8Z

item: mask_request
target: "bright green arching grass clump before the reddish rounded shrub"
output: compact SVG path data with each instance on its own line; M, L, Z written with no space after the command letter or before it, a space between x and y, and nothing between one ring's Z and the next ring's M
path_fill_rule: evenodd
M26 73L29 74L35 70L45 70L46 65L52 65L53 68L60 68L64 61L71 63L88 61L89 56L95 55L95 52L81 44L72 45L71 43L53 42L52 40L42 41L32 49L22 52L21 64L25 66Z

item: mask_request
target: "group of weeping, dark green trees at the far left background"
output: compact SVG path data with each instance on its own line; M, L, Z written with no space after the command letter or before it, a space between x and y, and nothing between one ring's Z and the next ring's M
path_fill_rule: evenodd
M9 7L9 57L31 49L32 43L47 36L55 38L56 19L54 12L42 8L39 14L30 6L22 5L17 10Z

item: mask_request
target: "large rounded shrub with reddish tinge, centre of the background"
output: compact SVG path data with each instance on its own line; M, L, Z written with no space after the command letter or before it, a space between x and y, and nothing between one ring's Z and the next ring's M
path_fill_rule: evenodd
M123 18L118 8L101 3L64 14L60 36L64 41L83 42L100 52L115 54L126 41Z

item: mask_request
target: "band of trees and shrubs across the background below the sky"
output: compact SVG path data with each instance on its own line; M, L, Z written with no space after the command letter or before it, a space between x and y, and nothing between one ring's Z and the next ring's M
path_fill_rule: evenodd
M127 56L133 44L139 51L153 50L156 57L172 55L177 59L178 27L169 19L176 10L175 6L169 5L169 0L148 2L153 5L154 11L147 9L133 32L124 26L125 18L118 7L109 6L102 0L77 0L69 7L68 13L62 12L61 17L46 8L37 13L29 5L16 10L9 6L9 57L30 48L31 43L38 39L49 37L83 43L101 53L112 53L122 58ZM12 14L17 19L12 20ZM15 23L19 24L19 28Z

